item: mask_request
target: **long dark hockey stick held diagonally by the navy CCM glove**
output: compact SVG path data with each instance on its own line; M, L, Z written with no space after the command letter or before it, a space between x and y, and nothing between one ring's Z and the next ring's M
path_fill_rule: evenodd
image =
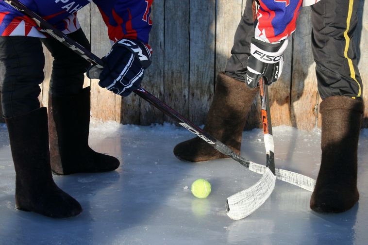
M54 28L50 23L45 21L42 17L35 14L32 10L28 9L24 4L19 2L18 0L3 0L4 2L8 3L9 5L16 8L18 11L24 13L26 16L29 16L30 18L35 21L37 26L39 26L43 31L46 33L49 33L50 36L54 37L58 41L60 41L62 44L67 46L68 48L72 49L74 52L76 52L78 55L82 56L84 59L88 60L94 65L97 65L99 68L103 68L103 63L99 57L94 55L92 52L90 52L88 49L85 49L83 46L75 42L73 39L69 38L66 34L62 33L61 31ZM236 162L242 164L243 166L249 168L251 171L264 174L266 171L266 166L253 163L249 160L244 159L243 157L235 154L229 147L221 143L220 141L216 140L214 137L203 131L201 128L196 126L191 121L187 120L170 108L167 104L153 96L148 91L144 90L143 88L139 88L134 91L135 94L140 96L141 98L145 99L149 103L151 103L154 107L161 110L168 116L172 117L173 119L177 120L180 125L182 125L185 129L188 131L196 134L198 137L203 139L205 142L210 144L212 147L217 149L219 152L229 156L230 158L234 159ZM313 180L307 176L287 171L284 169L275 169L276 178L279 180L283 180L285 182L288 182L290 184L299 186L303 189L306 189L308 191L313 191L316 180Z

